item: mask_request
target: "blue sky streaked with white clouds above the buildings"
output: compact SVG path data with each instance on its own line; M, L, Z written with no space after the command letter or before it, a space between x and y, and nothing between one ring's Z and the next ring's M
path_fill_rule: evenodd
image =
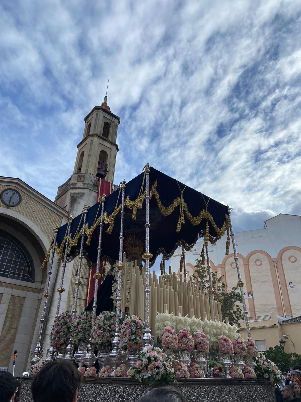
M301 214L299 0L2 0L0 26L1 175L53 200L110 75L116 183L149 162L236 230Z

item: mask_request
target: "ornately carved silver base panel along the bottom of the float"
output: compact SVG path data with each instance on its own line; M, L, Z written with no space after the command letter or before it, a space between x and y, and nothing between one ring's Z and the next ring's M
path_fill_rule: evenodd
M21 379L20 401L33 402L31 395L32 378ZM77 391L77 402L136 402L154 386L141 385L129 379L85 378ZM218 378L178 378L174 384L183 396L191 402L211 401L264 401L275 402L273 384L251 379ZM160 386L160 384L158 384Z

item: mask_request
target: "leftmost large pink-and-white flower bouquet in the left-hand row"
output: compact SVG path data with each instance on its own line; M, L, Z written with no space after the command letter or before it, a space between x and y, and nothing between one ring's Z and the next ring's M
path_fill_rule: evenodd
M62 312L55 318L50 333L51 345L57 348L67 346L70 340L72 315L69 311Z

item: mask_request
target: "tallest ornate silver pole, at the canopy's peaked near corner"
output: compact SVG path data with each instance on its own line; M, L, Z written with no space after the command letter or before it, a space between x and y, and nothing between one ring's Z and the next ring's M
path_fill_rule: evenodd
M149 260L152 258L153 254L149 252L149 164L145 165L145 253L142 258L145 260L145 332L143 335L143 347L147 347L152 344L152 335L149 327Z

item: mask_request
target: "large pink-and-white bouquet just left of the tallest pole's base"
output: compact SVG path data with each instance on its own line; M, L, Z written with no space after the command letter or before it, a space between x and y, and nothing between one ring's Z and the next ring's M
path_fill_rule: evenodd
M137 316L124 319L120 330L120 346L123 350L141 350L145 322Z

